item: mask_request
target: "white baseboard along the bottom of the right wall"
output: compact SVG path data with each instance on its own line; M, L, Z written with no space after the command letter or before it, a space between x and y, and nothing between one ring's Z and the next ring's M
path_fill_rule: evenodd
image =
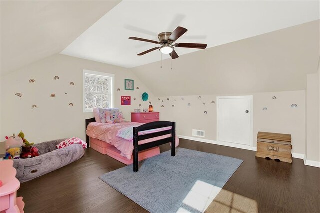
M240 145L240 144L222 142L222 141L218 141L217 142L215 140L208 140L208 139L197 138L197 137L189 137L189 136L183 136L183 135L177 135L177 136L179 138L187 139L187 140L194 140L194 141L198 141L198 142L205 142L205 143L211 143L211 144L215 144L215 145L223 145L223 146L228 146L228 147L233 147L233 148L241 148L241 149L256 151L256 147L247 146L247 145ZM303 159L305 165L320 167L320 162L307 160L305 158L305 154L292 153L292 157L293 158L297 158L297 159Z

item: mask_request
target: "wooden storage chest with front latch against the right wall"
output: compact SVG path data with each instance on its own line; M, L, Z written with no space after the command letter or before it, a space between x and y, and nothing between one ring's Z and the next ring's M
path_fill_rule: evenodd
M256 157L292 163L291 149L291 134L258 132Z

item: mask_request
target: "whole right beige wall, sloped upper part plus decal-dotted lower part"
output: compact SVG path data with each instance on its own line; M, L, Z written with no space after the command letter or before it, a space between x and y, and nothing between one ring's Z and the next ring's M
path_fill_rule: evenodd
M132 70L160 99L155 110L161 119L177 122L179 135L204 130L204 139L215 142L217 111L211 102L253 95L253 146L258 131L287 133L292 152L305 154L306 74L316 72L318 55L319 21L313 21L164 60L162 69L156 62Z

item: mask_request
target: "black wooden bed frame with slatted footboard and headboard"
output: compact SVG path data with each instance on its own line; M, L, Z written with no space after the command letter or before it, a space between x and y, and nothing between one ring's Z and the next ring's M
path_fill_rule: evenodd
M85 120L85 135L86 135L86 143L88 144L88 147L90 147L90 138L86 134L86 128L89 125L90 122L95 122L95 118L90 118ZM163 128L163 127L168 127L171 126L170 130L165 130L165 131L160 131L160 132L155 132L151 134L145 134L145 135L138 135L139 131L145 131L145 130L150 130L150 129L156 129L156 128ZM161 140L156 140L153 142L148 142L139 145L139 141L153 138L153 137L158 137L166 134L171 134L170 137L161 139ZM139 159L138 159L138 153L139 151L143 151L148 148L153 148L165 143L171 142L171 156L175 156L175 122L170 122L170 121L155 121L155 122L150 122L150 123L145 123L143 125L140 125L138 127L133 127L133 171L137 172L139 170Z

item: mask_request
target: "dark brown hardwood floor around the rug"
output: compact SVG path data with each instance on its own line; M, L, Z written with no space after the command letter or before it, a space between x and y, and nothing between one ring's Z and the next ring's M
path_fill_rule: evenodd
M320 168L255 158L255 152L180 139L180 147L244 160L207 212L320 212ZM161 146L161 152L170 146ZM98 177L125 166L89 148L63 168L21 184L25 212L147 212ZM199 165L201 166L201 165Z

